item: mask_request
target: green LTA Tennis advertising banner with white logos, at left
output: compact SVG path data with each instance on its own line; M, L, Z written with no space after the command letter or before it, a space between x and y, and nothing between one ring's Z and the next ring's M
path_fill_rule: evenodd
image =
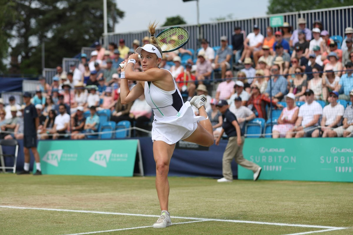
M43 174L132 177L138 140L39 141ZM35 169L34 169L35 170Z

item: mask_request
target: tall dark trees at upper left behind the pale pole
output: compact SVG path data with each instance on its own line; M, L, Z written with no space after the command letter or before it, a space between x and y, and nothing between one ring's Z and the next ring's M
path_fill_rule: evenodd
M54 68L63 57L73 57L103 33L103 3L96 0L13 0L18 16L8 21L12 57L20 56L21 73L41 71L41 48L45 45L45 66ZM107 0L108 31L124 12Z

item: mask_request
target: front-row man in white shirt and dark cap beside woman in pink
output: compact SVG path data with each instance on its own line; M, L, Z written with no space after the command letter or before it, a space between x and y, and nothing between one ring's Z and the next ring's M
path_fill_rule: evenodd
M308 137L316 130L319 118L322 115L321 105L314 100L314 92L311 89L306 89L306 103L300 106L297 122L292 130L286 134L286 138L301 138ZM292 134L291 132L296 132Z

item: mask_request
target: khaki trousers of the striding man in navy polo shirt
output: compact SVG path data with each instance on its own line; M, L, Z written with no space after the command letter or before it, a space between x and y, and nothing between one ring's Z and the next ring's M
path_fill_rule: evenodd
M226 149L223 153L223 159L222 159L222 173L223 177L229 180L233 179L233 172L232 172L232 167L231 167L231 162L233 161L233 158L235 158L235 162L238 163L238 165L251 170L252 172L256 172L257 169L259 168L259 165L248 161L244 158L243 155L243 146L244 146L244 136L241 136L242 144L238 146L237 144L237 136L232 136L229 137L228 139L228 144L226 146Z

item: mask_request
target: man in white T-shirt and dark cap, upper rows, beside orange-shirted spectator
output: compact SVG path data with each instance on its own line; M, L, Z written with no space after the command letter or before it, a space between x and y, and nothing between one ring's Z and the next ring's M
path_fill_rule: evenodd
M252 52L261 50L264 36L260 33L258 25L254 25L254 32L249 33L244 41L244 50L238 63L243 63L245 57L251 57Z

